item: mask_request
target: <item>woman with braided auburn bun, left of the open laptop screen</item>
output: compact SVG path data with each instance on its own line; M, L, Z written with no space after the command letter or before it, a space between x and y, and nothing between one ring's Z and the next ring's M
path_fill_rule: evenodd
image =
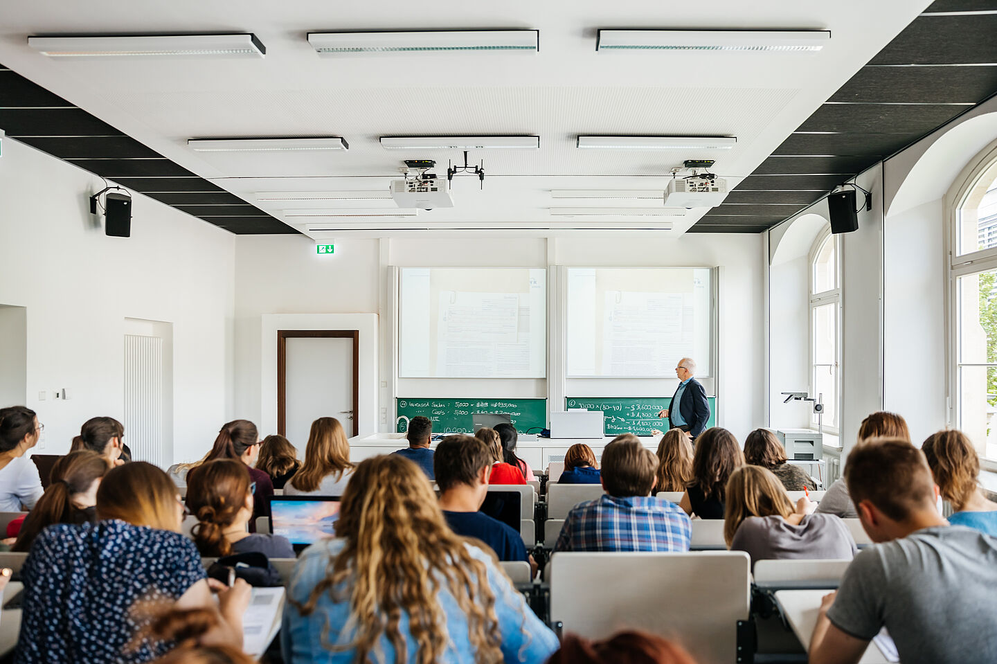
M186 506L197 517L193 541L204 557L232 553L263 553L268 558L293 558L286 537L249 534L252 491L244 464L219 459L201 464L187 476Z

